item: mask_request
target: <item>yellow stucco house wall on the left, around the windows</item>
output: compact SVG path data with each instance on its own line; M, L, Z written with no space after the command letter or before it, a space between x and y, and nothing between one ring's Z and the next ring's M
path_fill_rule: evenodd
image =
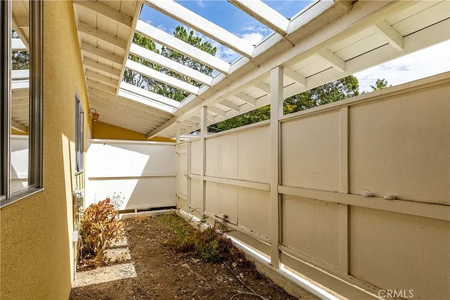
M1 299L68 299L75 88L89 111L71 1L44 3L44 191L1 209ZM89 118L85 118L86 121ZM84 124L87 133L87 123ZM85 143L86 144L86 143Z

